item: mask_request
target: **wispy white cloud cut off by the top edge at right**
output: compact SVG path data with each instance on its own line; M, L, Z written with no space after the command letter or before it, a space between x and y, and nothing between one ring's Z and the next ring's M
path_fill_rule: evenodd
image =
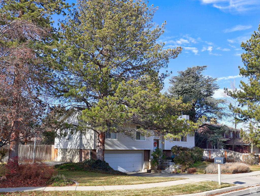
M211 4L213 7L223 11L245 12L248 10L258 9L259 0L199 0L204 4Z

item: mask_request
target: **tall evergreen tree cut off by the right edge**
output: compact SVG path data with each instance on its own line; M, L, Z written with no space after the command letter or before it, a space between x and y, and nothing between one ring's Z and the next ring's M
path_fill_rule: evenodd
M248 130L242 132L243 139L251 142L251 145L259 147L259 123L260 123L260 24L258 31L254 31L251 38L242 42L245 50L241 54L244 67L239 67L239 73L248 77L248 83L240 81L241 90L228 91L228 95L237 98L239 108L234 111L239 113L239 119L245 123Z

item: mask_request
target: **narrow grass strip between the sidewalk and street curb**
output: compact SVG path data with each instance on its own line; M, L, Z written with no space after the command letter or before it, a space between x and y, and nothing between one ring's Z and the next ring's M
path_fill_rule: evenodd
M127 189L127 190L111 190L111 191L32 191L32 192L12 192L8 193L9 196L170 196L170 195L182 195L191 193L200 193L204 191L210 191L219 188L225 188L235 186L228 183L219 185L218 182L213 181L202 181L196 183L186 183L175 186L155 187L155 188L144 188L144 189ZM6 193L0 194L0 196L6 195Z

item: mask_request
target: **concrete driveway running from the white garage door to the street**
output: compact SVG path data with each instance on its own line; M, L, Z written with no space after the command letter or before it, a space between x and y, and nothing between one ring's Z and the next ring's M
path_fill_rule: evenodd
M194 181L218 181L218 174L165 174L165 173L135 173L129 172L129 175L133 176L152 176L152 177L184 177ZM255 184L260 184L260 177L255 175L260 175L260 171L252 171L249 173L242 174L221 174L221 182L226 182L230 184L252 186Z

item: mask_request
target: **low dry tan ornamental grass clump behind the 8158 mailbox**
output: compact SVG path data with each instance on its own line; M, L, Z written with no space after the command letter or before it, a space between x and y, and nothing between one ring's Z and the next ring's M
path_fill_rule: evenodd
M245 163L225 163L221 164L221 173L247 173L250 171L250 168ZM218 164L211 163L205 168L205 172L209 174L217 174L218 173Z

